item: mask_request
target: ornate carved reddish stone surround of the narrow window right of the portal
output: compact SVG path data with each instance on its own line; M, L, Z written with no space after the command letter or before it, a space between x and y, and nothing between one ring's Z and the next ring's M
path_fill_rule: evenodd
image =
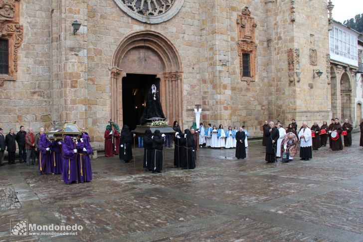
M255 18L251 17L251 11L248 6L245 6L241 14L237 17L237 29L238 29L238 56L239 56L239 72L242 81L255 80L255 60L256 60L256 50L257 44L255 43L255 32L256 32ZM243 76L243 57L244 53L250 54L250 77Z

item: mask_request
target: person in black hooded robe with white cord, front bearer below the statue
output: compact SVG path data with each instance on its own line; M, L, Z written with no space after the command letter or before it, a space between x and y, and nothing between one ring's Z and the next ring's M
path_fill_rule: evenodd
M153 153L151 156L151 169L153 173L161 173L163 170L163 148L165 142L165 134L160 134L157 129L151 137L153 140Z

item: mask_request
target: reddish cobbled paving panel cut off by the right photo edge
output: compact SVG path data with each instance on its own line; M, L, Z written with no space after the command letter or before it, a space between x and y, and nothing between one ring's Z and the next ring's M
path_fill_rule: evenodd
M276 208L275 213L290 218L363 234L363 191L335 191Z

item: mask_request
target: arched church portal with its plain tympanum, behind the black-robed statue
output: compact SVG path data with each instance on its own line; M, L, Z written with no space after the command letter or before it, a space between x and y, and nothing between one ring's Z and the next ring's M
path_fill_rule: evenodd
M123 85L147 79L146 86L157 82L160 98L169 123L182 120L182 66L175 46L162 34L146 30L129 34L117 47L112 58L111 116L123 124ZM136 79L133 79L136 78ZM138 80L139 81L139 80ZM150 87L147 87L148 89ZM130 86L128 86L130 89ZM125 104L125 102L124 102ZM130 109L126 109L127 112Z

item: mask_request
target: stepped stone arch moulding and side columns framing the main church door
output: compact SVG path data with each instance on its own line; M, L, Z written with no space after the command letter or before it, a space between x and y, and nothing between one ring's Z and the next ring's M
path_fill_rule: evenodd
M147 47L154 51L163 62L161 73L145 69L123 70L122 60L133 48ZM111 118L122 124L122 78L127 73L154 74L160 79L160 96L164 113L169 123L182 119L182 66L175 46L164 35L152 31L137 31L126 36L116 48L111 60Z

